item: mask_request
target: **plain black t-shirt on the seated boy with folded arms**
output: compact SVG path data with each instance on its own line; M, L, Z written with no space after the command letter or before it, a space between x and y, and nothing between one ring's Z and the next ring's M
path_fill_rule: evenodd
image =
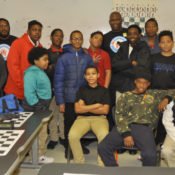
M110 96L109 96L108 89L99 85L95 88L92 88L89 85L82 86L76 94L75 102L78 102L80 99L83 100L86 105L92 105L96 103L101 103L103 105L104 104L110 105ZM88 112L81 115L82 116L99 116L102 114L93 114Z

